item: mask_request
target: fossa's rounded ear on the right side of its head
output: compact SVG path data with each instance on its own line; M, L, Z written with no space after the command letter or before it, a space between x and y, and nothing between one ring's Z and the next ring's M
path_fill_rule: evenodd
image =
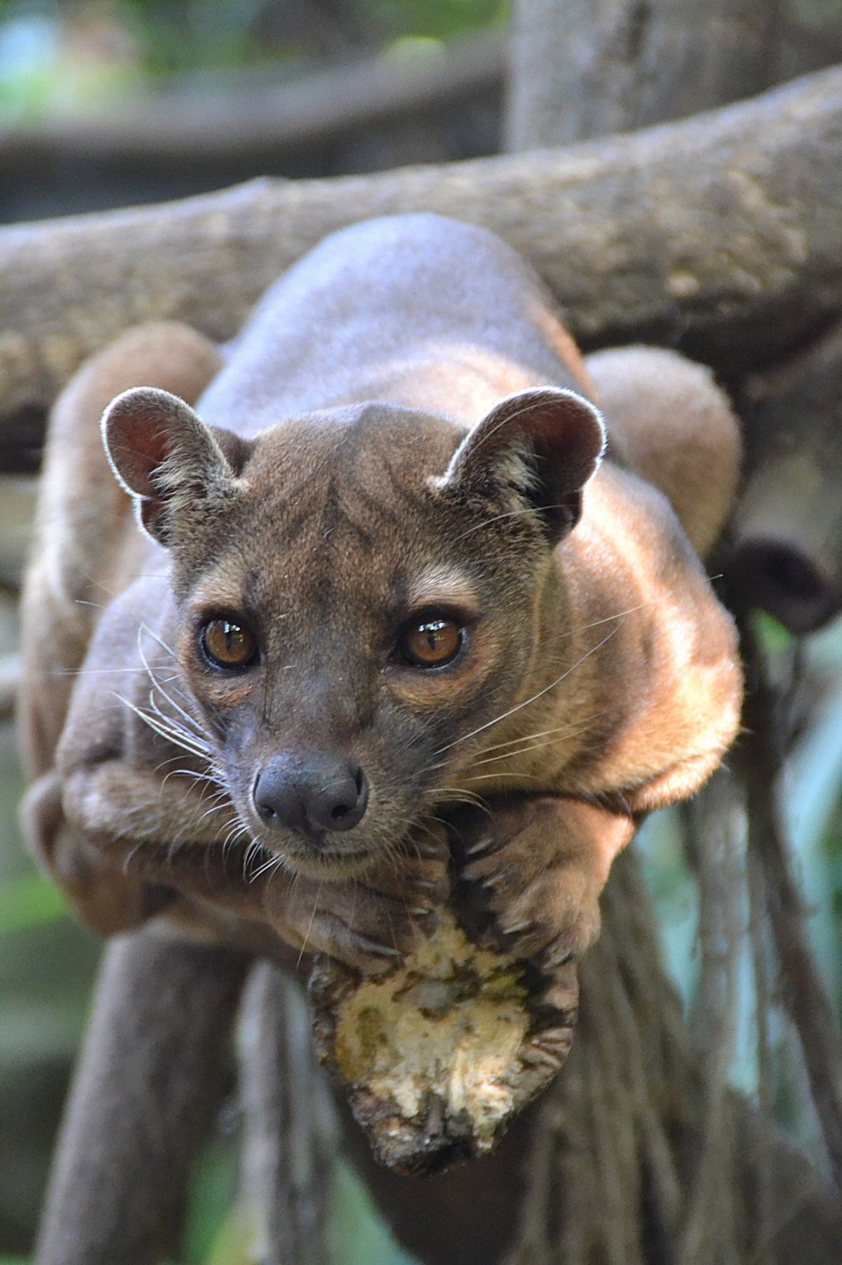
M606 447L606 428L584 396L540 387L507 396L461 441L440 488L492 501L528 501L552 543L579 521L582 490Z

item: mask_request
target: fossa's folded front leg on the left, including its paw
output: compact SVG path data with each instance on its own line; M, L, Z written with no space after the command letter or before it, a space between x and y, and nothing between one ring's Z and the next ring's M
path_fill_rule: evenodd
M137 926L157 912L157 893L169 891L269 926L297 949L378 973L432 929L449 888L446 841L432 827L364 874L327 882L292 874L281 858L252 849L230 802L217 811L211 794L209 807L186 778L107 760L70 774L62 803L42 848L86 921L102 931ZM239 841L226 846L231 831Z

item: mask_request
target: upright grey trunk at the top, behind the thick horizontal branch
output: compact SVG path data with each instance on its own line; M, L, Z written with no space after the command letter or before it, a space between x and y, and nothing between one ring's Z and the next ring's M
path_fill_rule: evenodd
M769 0L516 0L508 148L628 132L752 96L770 83L776 25Z

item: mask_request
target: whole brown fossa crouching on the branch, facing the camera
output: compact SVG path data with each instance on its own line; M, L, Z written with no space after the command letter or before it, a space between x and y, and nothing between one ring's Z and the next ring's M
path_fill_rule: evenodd
M698 553L738 458L707 371L585 367L508 247L432 215L330 237L221 353L124 335L47 453L39 855L100 930L157 916L374 970L448 891L437 818L480 797L465 888L523 955L580 953L641 815L737 729Z

